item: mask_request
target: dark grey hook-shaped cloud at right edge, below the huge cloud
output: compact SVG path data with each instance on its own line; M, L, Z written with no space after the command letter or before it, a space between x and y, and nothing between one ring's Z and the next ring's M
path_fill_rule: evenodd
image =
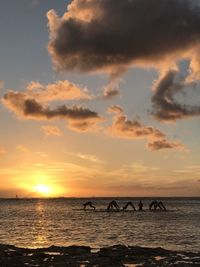
M162 74L156 83L152 97L153 115L160 121L176 121L187 117L199 116L199 106L188 106L179 103L175 99L178 92L182 92L186 86L188 76L181 77L178 69L168 70Z

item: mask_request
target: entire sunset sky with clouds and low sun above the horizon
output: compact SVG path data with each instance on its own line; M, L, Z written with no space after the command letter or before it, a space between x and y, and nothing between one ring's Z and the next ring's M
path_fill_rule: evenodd
M199 196L200 1L0 9L0 197Z

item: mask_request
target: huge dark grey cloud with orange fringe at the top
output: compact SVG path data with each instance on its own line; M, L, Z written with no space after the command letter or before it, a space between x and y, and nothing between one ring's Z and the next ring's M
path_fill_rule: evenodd
M49 21L48 51L59 70L122 72L138 63L190 58L198 73L196 0L73 0Z

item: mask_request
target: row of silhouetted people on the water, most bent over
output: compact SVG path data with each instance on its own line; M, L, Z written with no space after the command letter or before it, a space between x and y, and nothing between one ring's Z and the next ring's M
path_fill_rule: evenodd
M131 207L133 208L133 210L136 211L136 208L135 206L133 205L132 201L128 201L126 203L125 206L122 207L122 211L124 210L127 210L128 207ZM142 201L140 200L139 203L138 203L138 210L139 211L143 211L143 203ZM87 201L86 203L83 204L83 209L86 210L86 208L89 207L89 208L92 208L92 209L96 209L96 207L93 205L92 201ZM117 204L117 202L115 200L112 200L108 206L107 206L107 211L112 211L112 210L120 210L120 207L119 205ZM166 207L165 205L162 203L162 201L157 201L157 200L153 200L150 205L149 205L149 210L163 210L163 211L166 211Z

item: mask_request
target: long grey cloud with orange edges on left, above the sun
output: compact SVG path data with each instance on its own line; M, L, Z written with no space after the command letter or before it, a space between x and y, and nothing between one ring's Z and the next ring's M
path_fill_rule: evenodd
M79 106L60 105L54 108L43 105L35 99L28 99L23 93L10 91L3 97L4 105L23 119L52 120L64 119L69 128L76 131L95 130L104 119L97 112Z

